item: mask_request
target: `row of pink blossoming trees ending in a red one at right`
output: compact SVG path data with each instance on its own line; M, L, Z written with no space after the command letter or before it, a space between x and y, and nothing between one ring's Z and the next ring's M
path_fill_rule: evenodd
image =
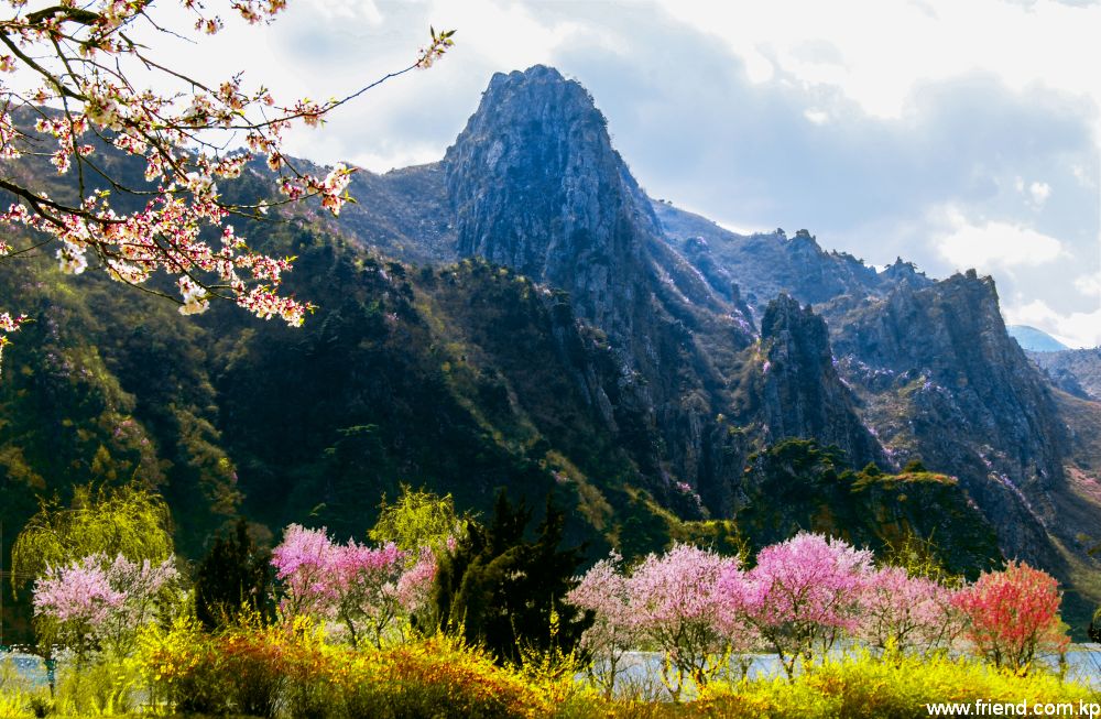
M595 613L582 641L609 691L623 654L642 644L664 653L674 698L726 671L732 652L757 647L778 654L789 676L842 639L895 652L969 647L1016 669L1066 651L1057 582L1038 569L1011 563L949 588L872 559L809 533L764 547L750 569L675 545L631 573L618 556L598 562L568 599Z

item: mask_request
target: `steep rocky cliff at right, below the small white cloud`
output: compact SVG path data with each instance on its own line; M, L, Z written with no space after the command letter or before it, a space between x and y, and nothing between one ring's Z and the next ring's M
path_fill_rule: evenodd
M826 309L841 367L897 461L951 468L999 527L1003 549L1050 563L1046 529L1064 486L1065 423L1006 334L990 277L898 286Z

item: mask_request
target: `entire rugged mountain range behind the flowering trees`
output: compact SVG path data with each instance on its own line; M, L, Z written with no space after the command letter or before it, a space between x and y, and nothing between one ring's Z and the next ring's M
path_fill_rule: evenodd
M48 260L0 275L35 318L0 380L0 519L134 478L195 558L239 514L261 540L362 536L401 482L476 511L506 487L554 492L592 557L807 529L916 540L969 576L1025 558L1079 632L1101 601L1101 404L1037 370L991 279L654 201L589 94L542 66L495 75L439 162L351 193L339 219L238 228L298 257L287 288L320 308L297 330L187 319Z

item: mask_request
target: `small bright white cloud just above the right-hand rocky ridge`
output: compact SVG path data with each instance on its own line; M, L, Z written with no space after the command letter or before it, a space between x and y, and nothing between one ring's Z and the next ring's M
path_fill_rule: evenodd
M936 240L937 251L958 269L992 270L1037 265L1064 255L1062 243L1036 230L1002 221L969 221L947 210L950 229Z

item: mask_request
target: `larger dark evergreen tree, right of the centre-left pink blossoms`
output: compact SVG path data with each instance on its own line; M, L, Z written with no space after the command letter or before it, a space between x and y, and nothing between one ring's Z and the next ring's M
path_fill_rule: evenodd
M461 629L467 641L486 646L501 663L519 663L522 650L568 653L592 623L591 613L565 600L577 584L584 547L559 548L564 512L548 497L534 541L524 536L531 519L525 503L514 506L502 490L489 526L470 522L436 575L440 627Z

